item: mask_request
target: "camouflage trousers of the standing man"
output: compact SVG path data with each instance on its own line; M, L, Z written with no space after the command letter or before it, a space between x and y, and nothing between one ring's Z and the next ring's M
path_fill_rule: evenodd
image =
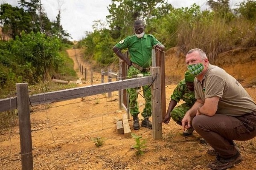
M128 79L137 77L137 74L143 74L144 76L149 76L150 72L149 71L142 72L137 68L134 68L133 66L131 66L128 70ZM137 99L138 99L137 90L139 90L140 88L141 87L127 89L129 94L131 116L137 116L140 113L138 102L137 102ZM143 88L143 96L145 99L145 108L143 109L143 112L141 113L141 115L144 118L146 118L151 116L151 87L148 87L148 85L145 85L142 88Z

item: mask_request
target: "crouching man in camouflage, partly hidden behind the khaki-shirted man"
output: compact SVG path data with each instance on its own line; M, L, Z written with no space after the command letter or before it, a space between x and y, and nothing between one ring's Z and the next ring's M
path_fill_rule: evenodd
M194 91L194 79L189 71L185 72L185 79L182 79L177 87L174 89L171 101L169 103L166 115L163 118L163 123L168 124L170 119L172 119L179 125L182 125L181 120L185 116L185 113L194 105L195 99L195 91ZM177 106L178 102L182 99L185 103ZM190 127L188 130L183 132L183 136L190 136L194 131L193 127Z

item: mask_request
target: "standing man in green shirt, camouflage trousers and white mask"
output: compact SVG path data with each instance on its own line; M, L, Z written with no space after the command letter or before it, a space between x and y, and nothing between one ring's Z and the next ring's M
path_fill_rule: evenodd
M119 41L114 47L115 54L122 59L127 65L129 65L128 78L137 77L137 74L143 74L144 76L150 75L149 68L151 65L151 52L152 47L160 48L164 50L164 45L161 44L153 35L145 34L145 26L143 21L137 20L134 23L134 32L132 36L126 37L124 40ZM130 59L127 59L121 52L121 50L128 48ZM130 113L133 116L134 130L140 129L138 114L140 113L138 107L138 88L128 89L129 101L130 101ZM143 87L143 96L145 98L145 108L141 115L143 121L142 127L148 127L152 129L152 124L148 120L151 116L151 89L148 86Z

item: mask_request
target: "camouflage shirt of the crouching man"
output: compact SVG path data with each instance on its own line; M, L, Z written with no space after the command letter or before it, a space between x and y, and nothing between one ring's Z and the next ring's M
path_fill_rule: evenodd
M182 99L186 104L192 106L194 105L196 99L195 99L195 92L190 91L186 87L185 79L181 80L177 87L174 89L171 99L175 100L177 103L180 102L180 99Z

